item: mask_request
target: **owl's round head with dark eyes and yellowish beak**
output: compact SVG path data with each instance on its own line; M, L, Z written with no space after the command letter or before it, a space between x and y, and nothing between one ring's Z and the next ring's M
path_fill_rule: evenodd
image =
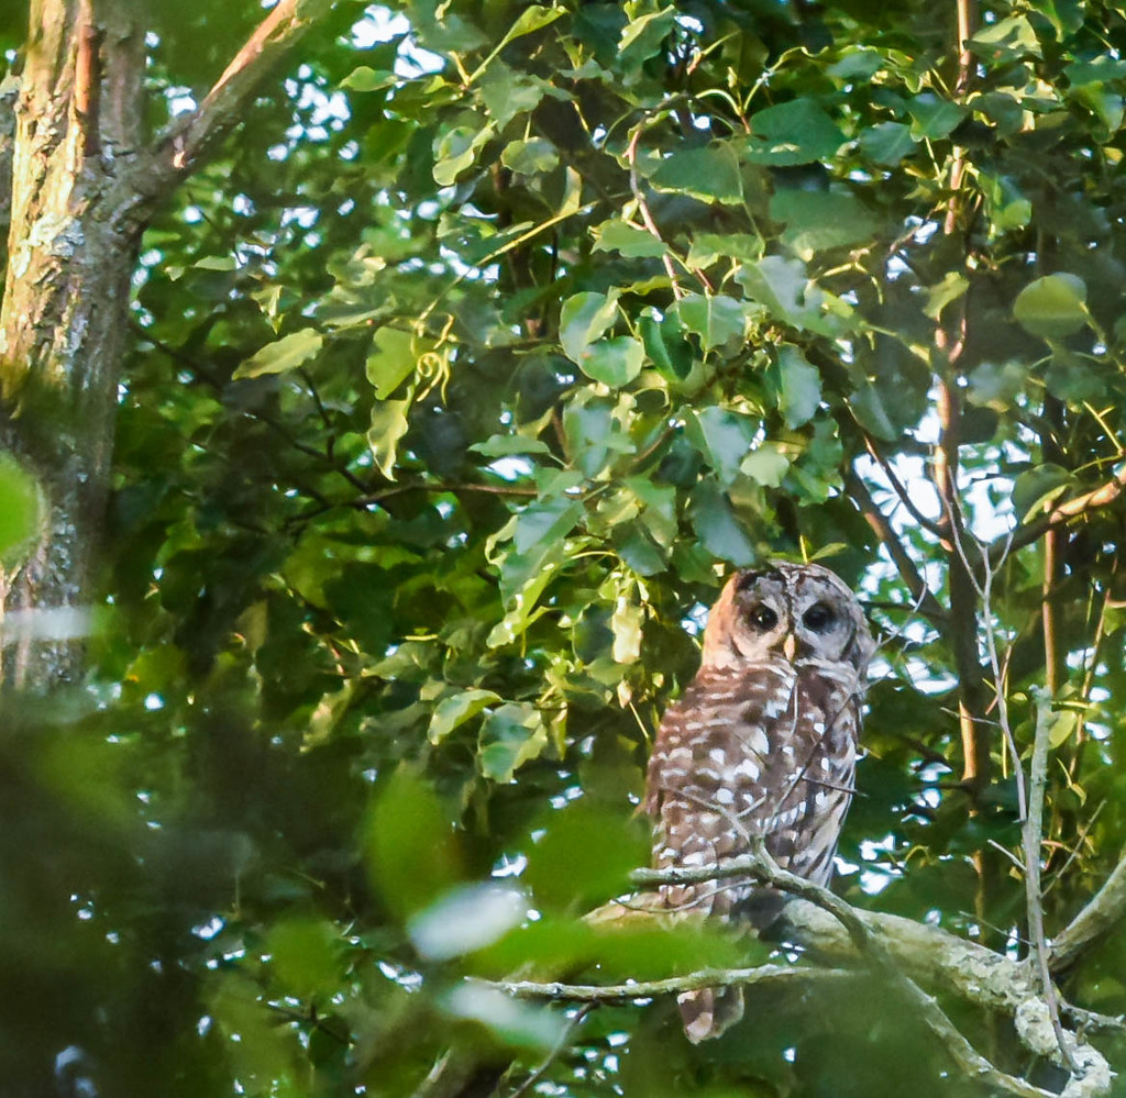
M736 572L712 608L705 667L813 659L851 665L863 678L875 641L856 595L821 565L774 561Z

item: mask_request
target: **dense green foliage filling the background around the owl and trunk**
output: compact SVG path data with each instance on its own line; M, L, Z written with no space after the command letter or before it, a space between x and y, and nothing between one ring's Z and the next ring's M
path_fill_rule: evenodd
M153 7L159 127L256 12ZM1025 952L998 669L1021 753L1055 699L1049 934L1114 866L1126 507L1044 515L1123 459L1123 50L1080 0L965 57L921 0L338 4L145 238L88 682L3 702L5 1091L396 1096L461 1042L508 1090L560 1046L539 1092L972 1092L878 982L694 1050L462 978L767 955L575 917L771 557L885 637L842 896ZM1123 948L1069 996L1126 1009Z

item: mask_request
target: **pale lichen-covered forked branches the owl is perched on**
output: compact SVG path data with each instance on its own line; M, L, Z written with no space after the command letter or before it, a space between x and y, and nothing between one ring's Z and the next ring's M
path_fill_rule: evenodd
M913 975L909 974L910 971L914 976L938 984L978 1007L1010 1015L1015 1019L1018 1036L1027 1047L1037 1055L1055 1053L1055 1059L1060 1059L1053 1028L1046 1025L1049 1008L1039 993L1038 981L1027 962L1012 961L937 927L896 916L858 910L828 889L779 868L761 840L758 840L751 854L732 858L723 865L635 870L631 880L635 884L653 888L745 876L752 876L796 898L787 907L786 917L797 944L815 950L826 960L848 962L858 955L866 960L892 984L911 1012L939 1038L968 1078L1022 1098L1049 1098L1051 1091L1007 1074L982 1056L958 1032L937 1000L923 991ZM1073 957L1075 951L1092 940L1096 934L1102 933L1114 918L1123 915L1126 915L1126 856L1103 891L1080 914L1072 927L1061 935L1067 952L1060 953L1058 960L1063 962ZM623 921L646 917L660 917L659 909L620 908L619 918ZM606 914L606 909L600 909L598 921L605 924L615 919ZM1056 956L1053 954L1054 960ZM754 969L703 970L667 980L629 981L604 987L534 981L498 981L489 986L521 998L597 1004L635 1001L705 987L840 980L850 974L855 975L855 971L850 973L844 968L804 969L767 964ZM1124 1028L1121 1018L1097 1015L1069 1004L1058 1004L1058 1009L1084 1029L1120 1032ZM1101 1053L1073 1033L1061 1028L1061 1035L1072 1071L1071 1080L1063 1091L1065 1098L1097 1098L1107 1094L1112 1073Z

